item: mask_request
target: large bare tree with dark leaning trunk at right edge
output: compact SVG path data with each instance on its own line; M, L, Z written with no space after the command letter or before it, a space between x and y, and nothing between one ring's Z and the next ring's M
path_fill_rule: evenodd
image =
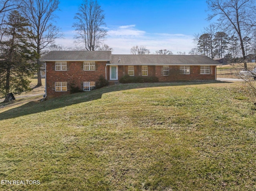
M255 0L207 0L212 13L208 20L218 16L219 27L225 32L235 32L240 40L244 69L247 69L244 36L256 23Z

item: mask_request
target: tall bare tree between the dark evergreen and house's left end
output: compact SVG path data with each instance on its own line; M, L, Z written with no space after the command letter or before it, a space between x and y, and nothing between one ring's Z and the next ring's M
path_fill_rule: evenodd
M39 60L41 51L62 35L59 29L52 24L56 19L54 12L58 10L59 3L59 0L24 0L22 11L30 22L38 54L37 86L42 85Z

